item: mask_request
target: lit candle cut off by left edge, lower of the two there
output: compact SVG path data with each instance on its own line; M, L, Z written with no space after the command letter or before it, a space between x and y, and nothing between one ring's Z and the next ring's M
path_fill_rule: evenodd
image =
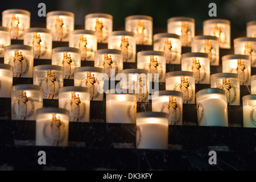
M13 86L13 66L0 64L0 97L11 97Z

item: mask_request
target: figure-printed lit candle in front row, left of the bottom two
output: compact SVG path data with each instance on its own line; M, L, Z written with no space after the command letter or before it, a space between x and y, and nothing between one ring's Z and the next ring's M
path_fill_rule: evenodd
M36 110L36 146L68 146L68 113L57 107Z

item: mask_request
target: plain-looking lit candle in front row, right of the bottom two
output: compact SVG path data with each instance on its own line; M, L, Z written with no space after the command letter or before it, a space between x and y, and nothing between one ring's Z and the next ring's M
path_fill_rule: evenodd
M141 112L136 116L136 146L146 149L168 149L168 114Z

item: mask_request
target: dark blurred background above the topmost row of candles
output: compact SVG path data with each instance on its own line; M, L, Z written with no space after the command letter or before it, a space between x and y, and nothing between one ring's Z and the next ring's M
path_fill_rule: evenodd
M84 16L90 13L113 15L113 27L124 27L129 15L149 15L154 27L167 28L167 19L173 16L189 16L196 20L196 30L202 30L203 21L209 18L224 18L231 21L231 29L246 30L246 22L256 20L255 0L2 0L0 11L24 9L31 12L31 23L46 23L46 17L38 16L38 4L46 4L46 13L65 10L75 13L75 24L84 25ZM217 17L209 17L209 3L216 3ZM2 15L1 15L2 17ZM2 20L2 18L1 18Z

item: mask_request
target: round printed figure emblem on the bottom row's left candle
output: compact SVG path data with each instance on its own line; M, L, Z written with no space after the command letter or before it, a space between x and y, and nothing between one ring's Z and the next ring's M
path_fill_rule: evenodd
M52 114L52 119L43 126L43 137L51 146L59 146L66 138L65 123Z

